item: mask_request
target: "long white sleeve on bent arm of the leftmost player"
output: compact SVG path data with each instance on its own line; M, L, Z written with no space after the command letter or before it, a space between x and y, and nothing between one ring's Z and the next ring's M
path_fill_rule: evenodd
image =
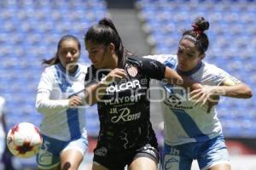
M36 99L36 108L40 113L49 114L68 108L68 99L49 99L53 90L53 83L54 76L50 71L45 69L38 84Z

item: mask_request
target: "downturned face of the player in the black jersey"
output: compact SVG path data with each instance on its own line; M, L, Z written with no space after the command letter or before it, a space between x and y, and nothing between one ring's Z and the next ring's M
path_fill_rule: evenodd
M85 49L88 51L89 59L96 69L108 68L110 59L108 47L96 42L86 41Z

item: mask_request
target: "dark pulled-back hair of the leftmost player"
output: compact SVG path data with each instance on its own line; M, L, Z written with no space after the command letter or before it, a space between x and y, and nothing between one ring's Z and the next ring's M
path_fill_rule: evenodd
M61 37L60 41L58 42L58 48L57 48L57 52L55 53L55 57L51 58L51 59L43 59L42 64L43 65L55 65L57 63L60 63L60 59L59 59L59 50L61 48L61 44L62 42L66 41L67 39L72 39L75 42L78 42L79 45L79 51L81 50L81 43L79 42L79 39L73 35L66 35Z

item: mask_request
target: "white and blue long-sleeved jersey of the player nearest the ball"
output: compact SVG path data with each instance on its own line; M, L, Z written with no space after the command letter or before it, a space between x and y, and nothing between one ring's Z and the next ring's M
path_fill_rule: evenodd
M80 65L76 72L70 74L61 64L44 69L38 84L36 107L44 114L40 125L44 135L68 141L86 136L84 105L68 107L68 98L73 94L84 101L84 77L87 66Z

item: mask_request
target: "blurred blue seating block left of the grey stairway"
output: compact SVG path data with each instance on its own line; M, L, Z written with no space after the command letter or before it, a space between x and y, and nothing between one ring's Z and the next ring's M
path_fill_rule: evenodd
M108 9L103 0L3 0L0 8L0 95L7 99L7 125L32 122L39 126L42 115L35 109L35 98L42 59L55 55L62 36L73 34L82 43L81 62L89 63L84 33L108 16ZM97 135L96 107L86 116L88 133Z

